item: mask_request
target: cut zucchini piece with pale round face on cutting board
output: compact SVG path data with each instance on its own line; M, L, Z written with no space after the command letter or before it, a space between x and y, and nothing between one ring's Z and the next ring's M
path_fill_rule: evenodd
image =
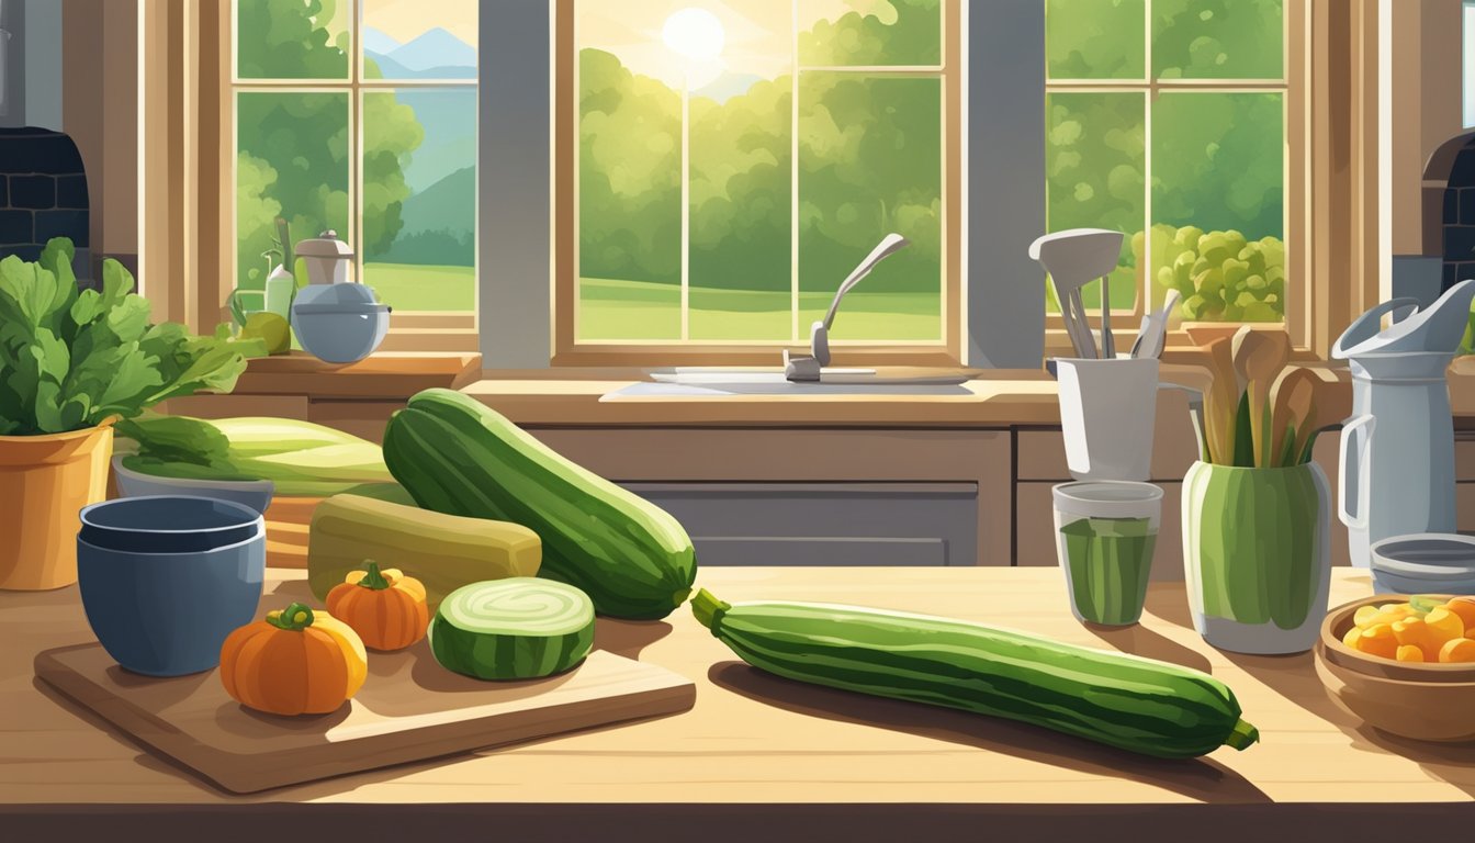
M594 607L574 586L512 577L462 586L431 620L431 654L476 679L538 679L572 669L594 645Z

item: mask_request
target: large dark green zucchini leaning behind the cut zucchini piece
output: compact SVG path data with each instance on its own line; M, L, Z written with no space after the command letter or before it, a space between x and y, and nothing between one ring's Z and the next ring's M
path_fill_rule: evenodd
M692 593L696 554L676 518L475 399L412 397L389 418L384 458L426 509L531 529L543 540L538 576L578 586L599 614L661 619Z

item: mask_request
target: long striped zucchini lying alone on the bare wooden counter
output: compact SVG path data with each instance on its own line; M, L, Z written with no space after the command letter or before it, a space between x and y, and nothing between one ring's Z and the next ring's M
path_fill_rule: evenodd
M707 589L692 611L743 661L799 682L1009 718L1158 757L1260 740L1223 682L1165 661L943 617L732 605Z

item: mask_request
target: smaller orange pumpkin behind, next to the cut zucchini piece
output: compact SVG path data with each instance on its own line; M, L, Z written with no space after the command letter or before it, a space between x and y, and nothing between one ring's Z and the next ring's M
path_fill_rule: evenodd
M327 592L326 602L327 611L354 627L373 650L404 650L425 638L431 623L425 585L398 568L381 571L373 560L361 571L348 571Z

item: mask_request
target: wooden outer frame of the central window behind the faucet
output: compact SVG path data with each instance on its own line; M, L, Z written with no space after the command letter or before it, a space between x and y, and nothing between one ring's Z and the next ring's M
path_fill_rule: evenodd
M968 186L962 165L966 143L962 120L966 78L962 38L963 0L941 0L941 69L928 68L928 78L941 78L943 89L943 314L941 338L935 343L830 341L835 365L957 366L963 348L963 261L962 205ZM553 7L553 366L653 366L653 365L776 365L782 348L807 348L804 325L796 338L752 343L702 341L578 341L574 313L578 291L578 53L575 0L555 0ZM801 66L799 71L835 68ZM916 68L841 68L844 72L904 77ZM796 248L796 244L795 244ZM857 255L857 261L863 255ZM791 266L796 266L791 254ZM798 320L798 317L794 317Z

